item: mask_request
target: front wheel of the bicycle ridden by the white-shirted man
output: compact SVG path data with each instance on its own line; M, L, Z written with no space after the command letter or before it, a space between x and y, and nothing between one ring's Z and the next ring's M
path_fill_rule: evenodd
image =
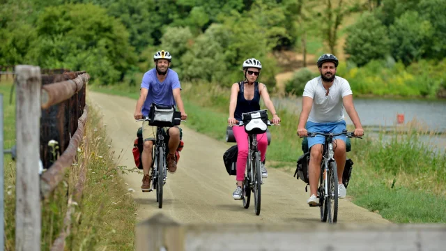
M337 166L336 162L330 162L330 169L328 171L328 199L327 212L328 222L334 224L337 222L338 209L338 181L337 181Z

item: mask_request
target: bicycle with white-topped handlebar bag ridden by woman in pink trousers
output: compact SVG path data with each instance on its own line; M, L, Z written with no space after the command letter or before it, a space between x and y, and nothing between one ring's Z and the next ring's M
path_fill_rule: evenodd
M262 120L266 120L266 124L262 123L262 126L274 126L272 121L268 120L268 114L266 110L247 112L243 113L244 121L236 121L238 126L243 126L244 124L249 124L249 121L253 119L261 119L261 114L263 114ZM266 119L265 119L266 116ZM249 121L245 123L245 117L249 118ZM280 126L279 124L277 126ZM242 200L243 207L249 208L249 203L251 200L251 192L254 193L254 211L256 215L260 215L261 208L261 185L263 184L263 178L261 174L261 157L260 151L257 149L257 135L266 132L266 127L259 128L254 126L254 128L246 128L245 131L248 134L248 158L246 161L245 178L243 180L242 186Z

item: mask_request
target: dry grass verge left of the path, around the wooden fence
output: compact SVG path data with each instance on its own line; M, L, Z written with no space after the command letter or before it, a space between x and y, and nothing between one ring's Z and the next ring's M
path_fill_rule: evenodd
M3 80L3 79L2 79ZM9 105L11 82L0 82L3 94L4 144L15 144L15 100ZM13 96L15 98L15 95ZM109 153L105 128L91 107L86 125L85 143L80 146L77 165L66 176L49 199L41 202L41 250L49 250L63 227L68 196L72 195L79 169L86 169L82 201L72 214L71 234L66 250L134 250L136 206L130 192L118 175L119 167ZM5 155L5 248L15 250L15 162ZM67 196L68 193L68 196Z

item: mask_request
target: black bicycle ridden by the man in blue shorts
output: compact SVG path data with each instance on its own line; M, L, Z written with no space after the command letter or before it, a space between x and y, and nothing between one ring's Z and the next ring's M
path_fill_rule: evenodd
M340 135L346 135L349 138L355 137L359 139L362 139L362 137L355 136L353 132L347 132L346 130L337 133L308 132L308 135L303 137L316 137L316 135L325 137L325 142L323 145L323 160L321 162L321 175L319 176L319 186L317 192L319 203L310 206L319 207L322 222L327 222L328 220L329 223L333 224L337 222L339 199L337 165L336 160L334 160L333 139L334 137Z

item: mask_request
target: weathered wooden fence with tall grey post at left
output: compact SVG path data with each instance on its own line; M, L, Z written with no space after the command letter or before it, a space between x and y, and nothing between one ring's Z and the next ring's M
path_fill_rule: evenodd
M88 112L86 83L90 76L85 72L63 71L41 75L38 66L15 66L16 250L40 250L40 199L48 197L63 180L84 136ZM39 174L39 167L43 174ZM85 176L82 172L80 175ZM85 177L79 177L76 196L68 199L65 226L51 250L64 248L70 233L72 203L80 199L84 181Z

